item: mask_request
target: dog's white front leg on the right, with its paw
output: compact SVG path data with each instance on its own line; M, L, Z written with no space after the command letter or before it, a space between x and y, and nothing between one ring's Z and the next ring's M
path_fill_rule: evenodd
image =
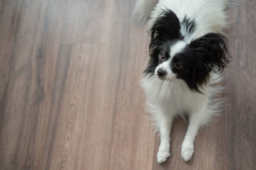
M198 129L209 119L209 115L207 113L207 106L204 104L199 111L189 115L188 130L181 146L181 157L185 161L190 160L194 153L194 141L198 133Z

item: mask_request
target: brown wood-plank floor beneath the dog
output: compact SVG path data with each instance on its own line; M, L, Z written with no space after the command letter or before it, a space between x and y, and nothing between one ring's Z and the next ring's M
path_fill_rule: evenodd
M0 169L256 169L256 1L228 10L222 116L188 163L176 120L164 164L139 86L149 37L134 3L0 1Z

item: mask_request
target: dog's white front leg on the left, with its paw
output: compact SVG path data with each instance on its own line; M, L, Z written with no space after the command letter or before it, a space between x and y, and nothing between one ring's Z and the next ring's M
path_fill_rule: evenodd
M161 112L159 114L159 133L160 146L157 152L157 162L163 163L170 157L170 131L172 127L173 117L168 113Z

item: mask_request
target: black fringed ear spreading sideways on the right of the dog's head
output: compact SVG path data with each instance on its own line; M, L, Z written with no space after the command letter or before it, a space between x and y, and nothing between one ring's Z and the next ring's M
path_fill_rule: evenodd
M231 59L226 38L221 34L205 34L191 41L189 48L198 60L207 65L209 72L221 73Z

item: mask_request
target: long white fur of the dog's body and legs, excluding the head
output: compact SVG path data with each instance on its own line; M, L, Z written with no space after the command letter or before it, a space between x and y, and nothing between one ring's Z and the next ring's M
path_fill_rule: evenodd
M136 4L135 14L138 20L147 20L149 12L151 27L154 20L164 9L172 10L179 20L193 18L196 22L195 32L190 36L182 31L184 41L189 43L192 39L199 38L209 32L223 33L227 27L227 13L225 8L228 0L139 0ZM142 4L148 4L143 6ZM153 6L156 5L154 8ZM152 9L153 8L153 9ZM156 129L160 134L160 146L157 153L157 161L164 162L170 156L170 131L173 118L189 115L189 125L181 148L182 159L188 161L194 152L194 141L198 129L207 124L213 115L218 113L218 108L223 99L214 99L214 95L223 90L214 87L214 83L221 81L217 74L212 73L211 80L201 88L200 94L189 90L183 80L173 78L172 80L159 80L156 74L153 76L143 75L141 87L145 90L148 111L152 113Z

